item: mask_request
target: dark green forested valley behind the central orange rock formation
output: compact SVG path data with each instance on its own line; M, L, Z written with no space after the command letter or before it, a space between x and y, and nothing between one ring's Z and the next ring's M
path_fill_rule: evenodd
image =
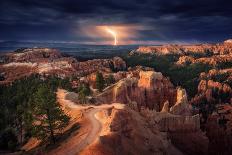
M197 92L198 77L201 72L207 72L212 67L206 64L191 64L187 66L176 66L178 55L133 55L124 57L128 66L142 65L152 67L155 71L162 72L164 76L170 77L171 82L186 89L188 95L193 97Z

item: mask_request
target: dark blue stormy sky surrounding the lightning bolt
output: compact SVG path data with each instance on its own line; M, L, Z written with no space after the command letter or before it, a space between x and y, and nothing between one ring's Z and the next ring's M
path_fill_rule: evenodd
M123 27L132 44L220 42L232 38L232 1L0 1L0 41L101 44L109 38L91 34L102 25Z

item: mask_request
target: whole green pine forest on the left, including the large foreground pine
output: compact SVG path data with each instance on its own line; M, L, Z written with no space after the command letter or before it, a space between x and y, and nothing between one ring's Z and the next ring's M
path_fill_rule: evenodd
M32 75L0 86L0 150L16 150L29 138L50 139L69 121L56 102L56 89L69 79Z

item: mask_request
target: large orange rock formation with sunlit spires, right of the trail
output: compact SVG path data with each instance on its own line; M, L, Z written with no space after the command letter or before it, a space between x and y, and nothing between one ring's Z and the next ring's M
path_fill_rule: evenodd
M135 74L120 80L106 88L96 100L98 103L127 104L145 118L148 126L165 132L172 143L187 154L208 152L209 141L200 130L200 115L192 114L185 89L175 89L159 72L140 70L139 77ZM129 125L132 118L126 121L124 114L120 114L120 118L121 121L111 124L112 131L120 132L129 139L135 137L134 127Z

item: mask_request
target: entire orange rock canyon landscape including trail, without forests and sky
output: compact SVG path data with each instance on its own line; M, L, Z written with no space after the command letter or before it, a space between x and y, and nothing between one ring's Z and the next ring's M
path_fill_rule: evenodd
M231 144L231 49L231 41L227 40L218 44L139 47L128 54L178 55L174 67L199 63L213 66L197 77L193 97L154 68L127 66L120 57L78 61L49 48L19 49L2 55L0 84L10 85L35 74L42 79L68 79L72 91L57 90L58 103L71 117L62 132L75 123L81 127L48 154L212 154L225 150L221 141L226 146ZM226 67L220 68L221 64ZM104 78L112 76L114 82L99 91L96 73ZM88 84L91 91L86 105L75 92L82 84ZM219 125L223 120L228 123ZM44 153L39 144L29 139L22 148Z

